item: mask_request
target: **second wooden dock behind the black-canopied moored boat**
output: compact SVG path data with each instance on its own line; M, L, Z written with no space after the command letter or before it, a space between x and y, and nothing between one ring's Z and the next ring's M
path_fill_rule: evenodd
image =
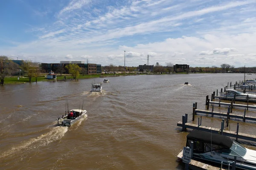
M209 115L215 115L215 116L221 116L221 117L233 117L233 118L237 118L237 119L242 119L244 122L245 120L252 120L252 121L256 121L256 117L253 116L244 116L242 115L238 115L238 114L228 114L228 113L221 113L221 112L214 112L214 111L206 111L206 110L200 110L200 109L195 109L195 114L197 113L201 113L201 114L209 114Z

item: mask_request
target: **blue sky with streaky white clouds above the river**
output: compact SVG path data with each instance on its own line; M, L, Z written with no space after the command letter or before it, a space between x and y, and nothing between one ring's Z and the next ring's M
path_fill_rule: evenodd
M256 66L256 0L0 0L0 16L12 59Z

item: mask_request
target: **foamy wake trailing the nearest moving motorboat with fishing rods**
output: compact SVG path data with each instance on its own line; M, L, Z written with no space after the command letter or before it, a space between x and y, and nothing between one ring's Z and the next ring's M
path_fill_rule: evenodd
M67 132L68 127L51 127L51 130L37 138L31 138L27 141L20 142L19 145L13 146L10 150L0 154L0 159L6 158L8 156L25 155L25 153L32 151L38 147L46 146L51 142L60 140L64 134Z

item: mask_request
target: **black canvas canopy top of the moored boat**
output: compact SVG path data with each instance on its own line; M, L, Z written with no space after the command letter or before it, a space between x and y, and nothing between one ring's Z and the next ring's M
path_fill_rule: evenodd
M199 142L206 142L217 144L222 147L230 148L233 144L233 140L228 136L220 135L217 133L209 133L200 130L192 130L187 135L187 139Z

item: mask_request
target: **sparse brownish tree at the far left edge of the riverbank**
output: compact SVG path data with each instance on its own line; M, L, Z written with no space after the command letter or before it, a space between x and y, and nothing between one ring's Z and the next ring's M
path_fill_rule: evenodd
M3 85L6 76L16 72L19 66L6 56L0 56L0 85Z

